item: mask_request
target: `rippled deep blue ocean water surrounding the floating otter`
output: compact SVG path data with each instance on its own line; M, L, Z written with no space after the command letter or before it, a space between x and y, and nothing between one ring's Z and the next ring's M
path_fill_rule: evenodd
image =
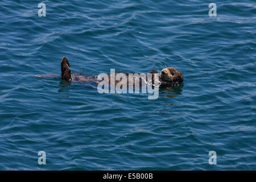
M255 170L255 1L209 3L1 0L0 169ZM184 84L148 100L34 77L63 56L72 73L174 67Z

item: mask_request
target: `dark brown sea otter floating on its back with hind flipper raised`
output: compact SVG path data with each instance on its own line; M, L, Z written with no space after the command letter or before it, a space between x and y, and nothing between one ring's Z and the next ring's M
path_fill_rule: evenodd
M177 86L177 85L180 85L180 84L183 83L182 73L180 71L178 71L177 69L172 68L172 67L164 68L160 72L160 74L155 70L151 71L150 73L152 74L152 84L153 85L154 85L154 76L155 76L155 74L158 76L160 88ZM115 75L117 75L117 74L118 73L115 73ZM123 73L123 74L125 74L126 76L129 75L129 73ZM110 77L111 74L108 75L108 76ZM56 76L56 75L36 75L36 77L59 77L59 76ZM81 73L71 74L70 64L69 64L69 61L66 57L63 57L63 59L61 60L61 79L65 80L65 81L68 81L68 82L71 82L71 81L80 81L80 82L94 81L94 82L96 82L96 84L99 83L99 81L97 80L97 76L88 76L88 75L84 75L84 74L81 74ZM143 79L139 78L139 86L143 85L142 81L143 81ZM144 81L146 81L146 80L144 80ZM119 80L115 80L115 84L117 84L118 82L119 82ZM129 80L127 80L127 82L129 82Z

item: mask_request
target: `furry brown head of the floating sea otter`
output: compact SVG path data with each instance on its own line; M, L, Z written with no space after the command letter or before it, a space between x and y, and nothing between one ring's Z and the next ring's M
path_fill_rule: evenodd
M166 82L170 86L176 86L183 82L183 75L182 73L172 67L165 68L161 71L160 80Z

